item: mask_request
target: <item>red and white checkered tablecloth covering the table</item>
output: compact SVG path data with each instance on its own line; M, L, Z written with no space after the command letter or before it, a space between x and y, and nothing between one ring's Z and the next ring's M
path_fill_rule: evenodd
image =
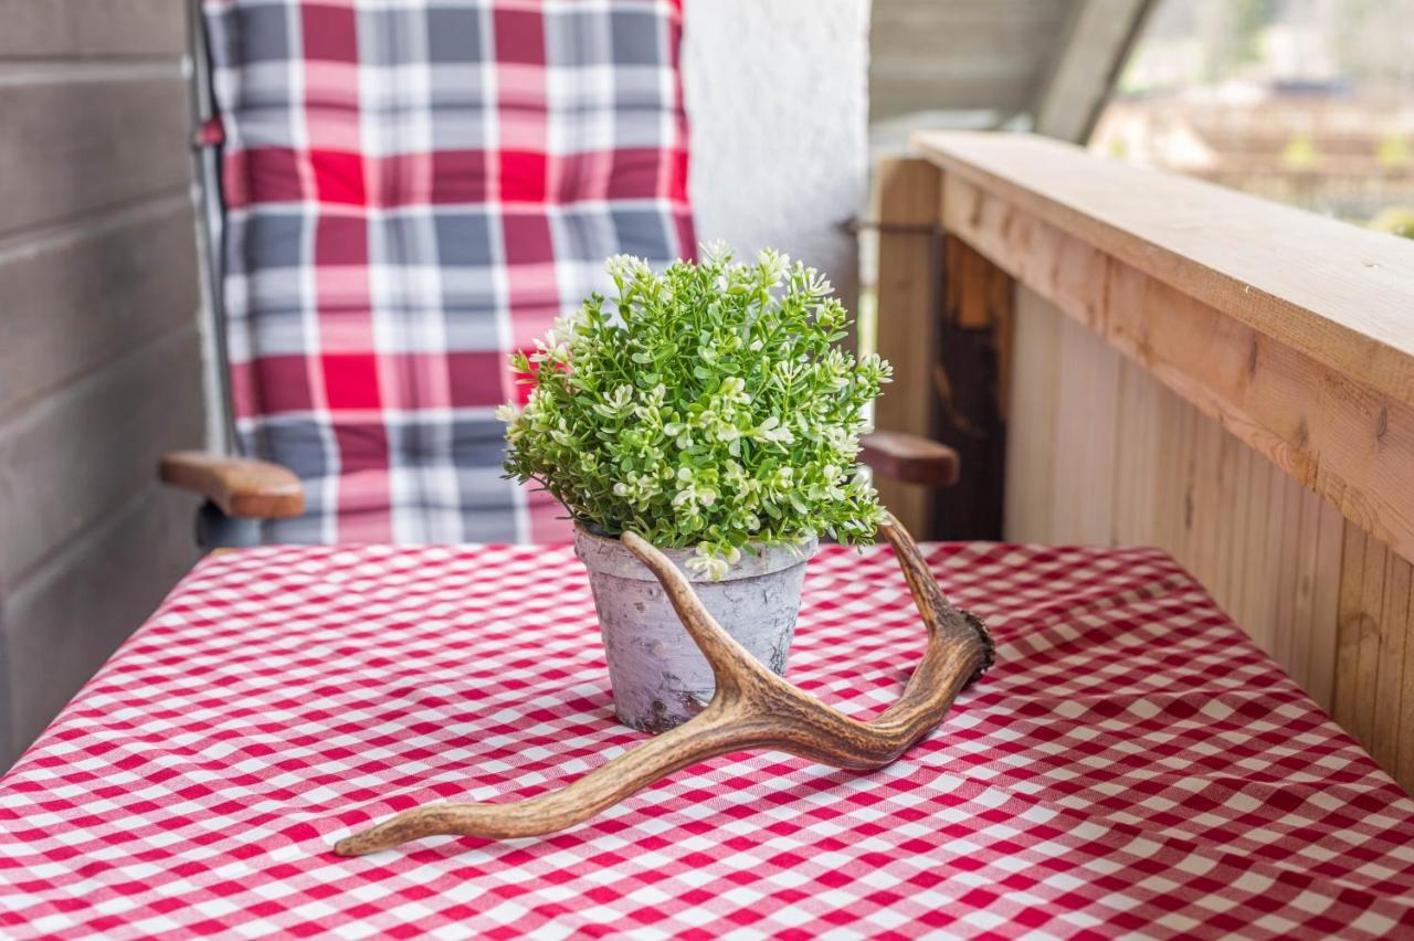
M7 935L904 938L1414 931L1414 803L1167 555L928 547L997 665L874 774L683 770L539 841L355 827L629 747L568 548L204 561L0 781ZM891 555L810 564L790 661L855 715L922 626Z

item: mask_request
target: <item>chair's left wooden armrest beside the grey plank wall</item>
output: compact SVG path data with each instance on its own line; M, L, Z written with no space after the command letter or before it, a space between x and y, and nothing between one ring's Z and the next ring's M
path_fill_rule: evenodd
M163 455L158 475L173 486L199 493L232 519L279 520L304 513L300 478L269 461L174 451Z

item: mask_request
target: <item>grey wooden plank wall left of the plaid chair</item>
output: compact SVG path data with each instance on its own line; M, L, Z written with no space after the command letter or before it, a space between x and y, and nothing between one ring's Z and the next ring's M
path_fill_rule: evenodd
M187 23L0 0L0 767L195 558L204 438Z

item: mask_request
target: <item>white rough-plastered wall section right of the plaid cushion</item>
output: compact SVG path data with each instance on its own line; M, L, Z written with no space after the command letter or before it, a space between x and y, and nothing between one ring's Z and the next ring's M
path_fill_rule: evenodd
M686 0L697 237L771 246L855 294L839 223L868 177L870 0Z

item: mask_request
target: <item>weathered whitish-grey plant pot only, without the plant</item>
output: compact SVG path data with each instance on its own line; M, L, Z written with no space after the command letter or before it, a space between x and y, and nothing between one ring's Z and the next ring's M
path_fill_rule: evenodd
M711 668L652 572L617 538L583 527L575 527L574 548L590 571L619 721L656 733L701 712L715 691ZM665 554L687 575L717 623L752 657L785 675L805 567L814 550L814 540L795 550L747 548L715 582L687 568L694 550Z

